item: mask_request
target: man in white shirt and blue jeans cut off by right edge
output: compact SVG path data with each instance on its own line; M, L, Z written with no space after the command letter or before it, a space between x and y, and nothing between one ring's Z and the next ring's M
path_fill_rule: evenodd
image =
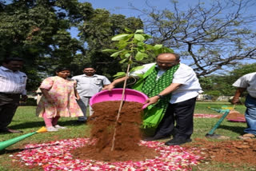
M246 97L246 123L247 128L244 130L245 134L239 136L241 139L255 138L256 137L256 72L250 73L238 78L234 82L233 86L237 87L237 90L232 99L233 104L239 102L239 97L244 91L247 90L248 95Z

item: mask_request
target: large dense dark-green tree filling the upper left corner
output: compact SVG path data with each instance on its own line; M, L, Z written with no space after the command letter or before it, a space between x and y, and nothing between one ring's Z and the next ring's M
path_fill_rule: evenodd
M24 58L27 89L36 89L41 77L55 66L70 64L81 42L71 38L68 29L90 18L90 3L77 0L13 0L0 2L0 59Z

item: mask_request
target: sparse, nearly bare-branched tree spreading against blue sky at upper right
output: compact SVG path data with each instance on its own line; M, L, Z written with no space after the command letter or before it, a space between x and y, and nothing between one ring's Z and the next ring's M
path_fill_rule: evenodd
M146 2L148 10L141 11L148 16L144 25L146 33L154 36L152 43L180 52L199 77L223 66L233 67L243 59L256 59L256 34L250 29L255 15L245 13L255 6L254 0L198 2L186 11L180 10L178 1L166 10Z

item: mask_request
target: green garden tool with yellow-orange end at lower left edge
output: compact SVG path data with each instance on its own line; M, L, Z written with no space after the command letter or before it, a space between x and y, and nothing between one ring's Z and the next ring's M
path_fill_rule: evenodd
M14 137L10 140L2 141L2 142L0 142L0 151L2 149L6 149L6 147L9 147L10 145L14 145L18 141L22 141L26 137L30 137L30 136L34 135L35 133L43 133L43 132L47 132L47 129L44 126L41 129L38 129L38 131L35 131L33 133L26 133L26 134L21 135L19 137Z

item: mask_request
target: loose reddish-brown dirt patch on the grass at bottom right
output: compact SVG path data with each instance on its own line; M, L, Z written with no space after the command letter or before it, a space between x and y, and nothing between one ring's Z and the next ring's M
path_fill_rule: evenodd
M235 165L256 165L256 139L238 141L207 141L195 138L194 143L184 145L186 147L198 147L199 156L205 157L206 161L218 161Z

